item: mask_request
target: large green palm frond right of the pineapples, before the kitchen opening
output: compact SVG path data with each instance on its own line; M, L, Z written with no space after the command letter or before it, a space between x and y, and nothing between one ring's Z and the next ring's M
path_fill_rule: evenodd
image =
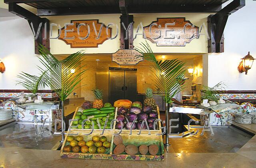
M184 76L186 72L185 62L178 59L157 61L147 42L140 43L136 49L142 54L138 57L150 61L150 68L154 74L152 76L154 88L159 90L158 94L163 97L166 103L170 103L174 95L184 89L184 86L178 87L177 79Z

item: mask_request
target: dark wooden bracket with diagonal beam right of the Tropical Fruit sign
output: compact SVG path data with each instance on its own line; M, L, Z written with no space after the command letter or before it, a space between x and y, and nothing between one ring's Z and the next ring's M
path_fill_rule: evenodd
M224 28L228 16L245 6L245 0L233 0L214 15L208 16L208 52L224 52Z

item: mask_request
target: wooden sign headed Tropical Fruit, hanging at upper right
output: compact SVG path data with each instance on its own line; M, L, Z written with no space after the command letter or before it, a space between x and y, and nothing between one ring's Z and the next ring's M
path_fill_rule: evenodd
M157 46L185 46L198 38L198 27L185 18L157 18L144 27L144 33Z

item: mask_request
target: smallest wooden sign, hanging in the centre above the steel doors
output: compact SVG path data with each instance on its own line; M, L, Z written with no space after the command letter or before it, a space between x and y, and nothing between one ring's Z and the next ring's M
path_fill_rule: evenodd
M117 52L112 54L112 61L119 65L136 65L143 60L142 58L138 58L140 55L140 52L135 49L119 49Z

